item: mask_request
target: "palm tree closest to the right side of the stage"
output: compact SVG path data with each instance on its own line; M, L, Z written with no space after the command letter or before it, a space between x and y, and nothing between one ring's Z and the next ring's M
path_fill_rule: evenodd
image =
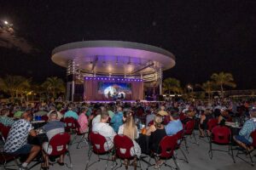
M178 94L181 93L182 89L180 87L180 82L176 78L166 78L163 82L164 91L168 91L168 94L174 93Z

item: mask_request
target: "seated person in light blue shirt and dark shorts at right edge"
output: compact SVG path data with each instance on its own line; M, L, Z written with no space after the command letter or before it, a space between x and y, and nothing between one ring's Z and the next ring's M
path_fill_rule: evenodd
M252 144L253 139L251 133L256 130L256 110L250 111L250 119L245 122L239 132L239 135L233 137L237 144L241 145L246 150L253 150L253 146L247 147Z

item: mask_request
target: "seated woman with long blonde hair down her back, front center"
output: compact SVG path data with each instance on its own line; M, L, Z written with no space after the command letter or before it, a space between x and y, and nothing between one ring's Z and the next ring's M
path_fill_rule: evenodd
M124 112L123 121L124 124L119 127L119 134L124 134L132 140L134 147L130 150L131 156L136 155L137 157L140 157L142 150L139 144L135 141L135 139L138 138L138 131L132 116L132 111Z

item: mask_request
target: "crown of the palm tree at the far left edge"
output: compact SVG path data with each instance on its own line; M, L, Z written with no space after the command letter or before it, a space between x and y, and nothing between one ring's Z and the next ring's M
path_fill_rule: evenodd
M12 99L18 98L19 94L24 94L30 88L31 78L7 75L0 78L0 88L8 93Z

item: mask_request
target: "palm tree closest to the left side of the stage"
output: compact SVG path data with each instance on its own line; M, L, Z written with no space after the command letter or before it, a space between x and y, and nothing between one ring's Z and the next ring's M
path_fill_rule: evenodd
M61 78L58 77L48 77L46 81L42 84L46 90L55 98L57 93L65 92L65 85Z

